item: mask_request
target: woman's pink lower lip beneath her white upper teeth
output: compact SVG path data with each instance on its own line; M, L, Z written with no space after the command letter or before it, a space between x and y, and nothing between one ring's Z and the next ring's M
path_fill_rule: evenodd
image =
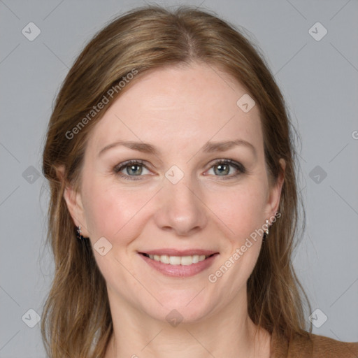
M218 254L214 254L213 256L210 256L201 262L197 262L196 264L191 264L191 265L163 264L163 262L155 261L154 259L150 259L149 257L146 257L142 254L138 254L138 255L141 256L142 259L149 266L152 266L152 268L155 268L160 273L163 273L164 275L170 277L183 278L183 277L194 276L197 273L206 270L206 268L210 267L213 264L215 257L217 257Z

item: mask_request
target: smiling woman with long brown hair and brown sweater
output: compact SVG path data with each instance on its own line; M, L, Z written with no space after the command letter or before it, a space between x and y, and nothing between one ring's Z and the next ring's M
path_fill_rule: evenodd
M50 357L356 357L306 331L294 155L280 90L229 24L153 6L108 24L43 152Z

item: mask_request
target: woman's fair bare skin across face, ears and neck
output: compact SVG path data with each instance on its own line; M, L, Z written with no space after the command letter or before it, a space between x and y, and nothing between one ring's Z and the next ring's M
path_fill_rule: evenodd
M94 250L113 317L106 358L269 357L271 336L264 329L255 335L258 327L248 317L246 297L262 237L216 282L208 280L278 210L283 176L269 184L259 109L244 113L238 108L245 88L206 64L138 76L92 129L79 192L67 187L64 194L83 236L92 245L101 237L112 245L103 256ZM201 150L208 141L239 138L255 152L245 145ZM160 153L118 145L99 155L117 141L150 143ZM129 159L145 162L135 167L142 169L138 180L115 173ZM229 166L220 175L215 159L232 159L246 172ZM184 173L176 184L165 176L173 165ZM127 169L121 173L133 178ZM201 273L170 278L138 255L162 248L219 255ZM173 309L183 318L176 327L166 321Z

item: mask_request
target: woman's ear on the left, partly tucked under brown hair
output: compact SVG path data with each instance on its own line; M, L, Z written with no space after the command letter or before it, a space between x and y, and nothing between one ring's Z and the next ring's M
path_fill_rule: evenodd
M57 169L57 176L60 180L64 180L64 167ZM76 227L81 227L83 236L89 236L80 192L73 186L66 184L64 189L64 200L66 201L67 208Z

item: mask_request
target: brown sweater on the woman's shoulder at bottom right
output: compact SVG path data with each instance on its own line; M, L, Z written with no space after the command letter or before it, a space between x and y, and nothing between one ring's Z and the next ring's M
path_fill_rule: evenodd
M288 342L273 333L270 358L358 358L358 342L346 343L317 334Z

